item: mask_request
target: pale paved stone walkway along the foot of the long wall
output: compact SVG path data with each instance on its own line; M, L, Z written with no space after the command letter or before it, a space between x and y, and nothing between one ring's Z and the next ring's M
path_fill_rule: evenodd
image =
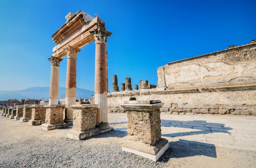
M108 113L115 130L127 131L126 113ZM256 151L256 116L161 114L162 137L169 141Z

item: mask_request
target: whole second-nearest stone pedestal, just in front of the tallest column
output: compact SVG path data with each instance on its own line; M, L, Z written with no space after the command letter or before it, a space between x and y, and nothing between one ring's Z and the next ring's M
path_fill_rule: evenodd
M73 108L73 128L68 131L68 138L81 140L86 137L113 130L113 127L107 127L107 129L95 128L98 105L83 104L74 105L71 106L71 108Z

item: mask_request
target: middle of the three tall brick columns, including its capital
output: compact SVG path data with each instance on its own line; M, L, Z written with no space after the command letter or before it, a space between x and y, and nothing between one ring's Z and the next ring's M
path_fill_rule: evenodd
M67 52L67 75L66 75L66 115L64 122L67 126L72 125L73 110L70 106L76 104L76 57L77 53L81 50L68 46L65 51Z

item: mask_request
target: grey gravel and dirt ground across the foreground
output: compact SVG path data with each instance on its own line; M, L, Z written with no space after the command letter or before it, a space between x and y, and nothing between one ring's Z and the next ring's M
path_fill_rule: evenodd
M0 167L256 167L256 152L174 140L154 163L122 151L126 131L69 140L70 128L43 131L0 117Z

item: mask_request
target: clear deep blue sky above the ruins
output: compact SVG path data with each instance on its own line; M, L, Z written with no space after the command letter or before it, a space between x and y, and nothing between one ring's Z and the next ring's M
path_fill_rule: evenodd
M157 84L168 62L256 39L256 1L0 0L0 90L50 86L51 35L69 12L95 13L108 31L108 80ZM77 56L77 87L94 90L95 43ZM66 84L66 57L60 87Z

